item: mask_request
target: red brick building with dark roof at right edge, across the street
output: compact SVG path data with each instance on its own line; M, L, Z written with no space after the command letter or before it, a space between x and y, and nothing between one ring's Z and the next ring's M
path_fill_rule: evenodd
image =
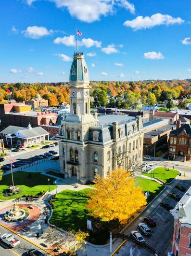
M170 132L168 154L171 159L176 156L185 157L185 160L191 159L191 125L180 127L180 121L177 121L177 129Z

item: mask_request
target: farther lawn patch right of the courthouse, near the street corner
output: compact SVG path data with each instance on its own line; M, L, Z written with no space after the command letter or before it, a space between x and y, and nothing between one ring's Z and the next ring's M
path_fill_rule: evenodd
M169 169L169 171L166 171L164 167L157 167L154 169L154 177L157 177L161 179L162 181L166 183L170 183L177 175L179 171ZM151 177L151 173L142 173L145 176ZM153 177L153 171L152 171L152 177Z

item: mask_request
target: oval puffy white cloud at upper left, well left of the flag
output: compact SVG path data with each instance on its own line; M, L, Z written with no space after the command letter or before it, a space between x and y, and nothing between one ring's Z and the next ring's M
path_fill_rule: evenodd
M45 27L33 26L33 27L27 27L25 31L22 31L22 33L24 34L25 37L29 37L32 39L39 39L43 36L51 35L53 33L53 30L52 29L48 30Z

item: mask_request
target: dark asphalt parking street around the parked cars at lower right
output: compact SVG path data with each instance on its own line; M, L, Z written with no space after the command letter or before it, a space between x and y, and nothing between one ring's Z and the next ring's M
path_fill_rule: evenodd
M178 182L178 180L177 180ZM191 180L184 180L180 181L180 184L184 185L186 189L188 189L191 186ZM169 197L170 192L177 193L181 196L184 195L185 192L182 192L178 190L178 188L173 188L171 190L166 190L167 196L163 201L170 203L173 207L176 206L177 202L175 199L172 199ZM162 192L163 193L163 192ZM158 200L158 203L160 201ZM153 209L152 209L153 208ZM154 209L152 205L149 206L150 213L143 213L142 216L132 223L130 227L127 229L126 234L130 235L131 231L133 230L139 230L138 224L139 223L145 223L144 217L147 215L150 215L155 221L156 221L156 227L151 228L153 233L151 236L145 236L143 235L143 238L145 239L146 243L148 243L151 247L153 247L156 251L158 251L161 255L167 255L164 254L166 252L166 249L170 248L171 250L171 241L173 236L173 230L174 230L174 217L171 215L171 213L163 208L160 204ZM146 223L145 223L146 224ZM133 248L133 255L135 256L151 256L152 254L146 251L145 249L141 248L139 245L136 245L132 242L126 242L126 244L120 249L119 256L127 256L127 252L129 252L130 248ZM170 251L169 250L169 251Z

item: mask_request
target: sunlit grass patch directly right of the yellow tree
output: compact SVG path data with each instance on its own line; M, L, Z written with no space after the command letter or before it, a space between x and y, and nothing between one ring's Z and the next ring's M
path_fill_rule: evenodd
M135 178L135 185L141 186L144 193L147 191L150 192L150 197L147 199L147 202L152 201L153 198L155 198L165 187L158 182L151 181L142 177Z

